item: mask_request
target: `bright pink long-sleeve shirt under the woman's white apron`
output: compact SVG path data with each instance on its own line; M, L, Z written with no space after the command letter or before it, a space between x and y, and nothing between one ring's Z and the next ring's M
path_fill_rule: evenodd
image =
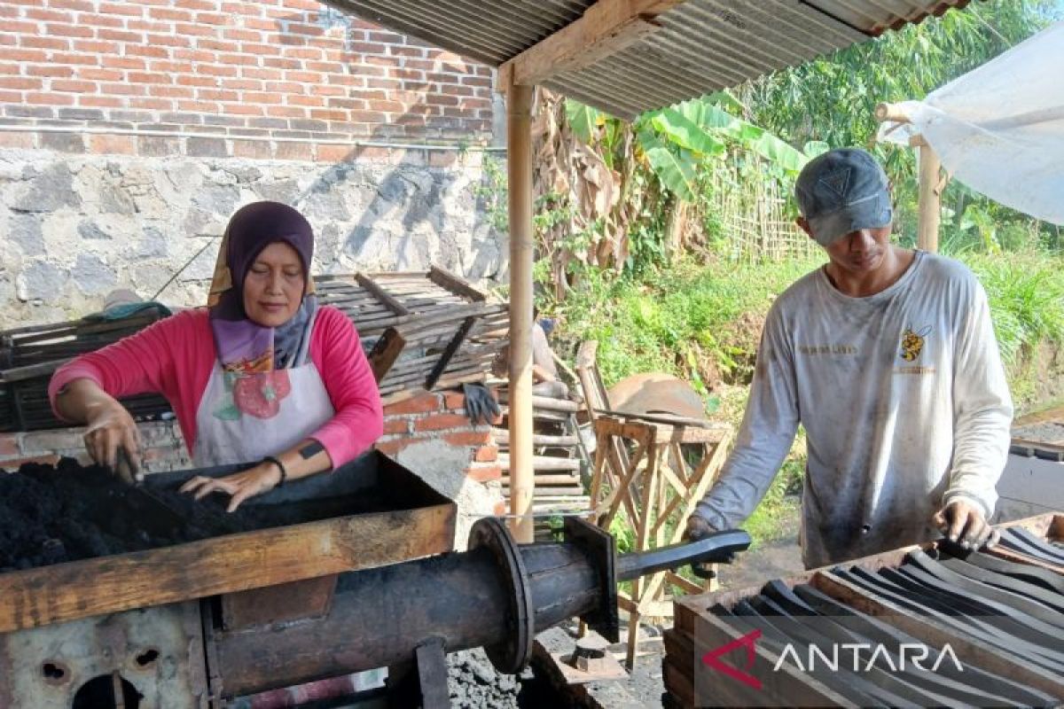
M318 309L311 333L311 360L336 411L311 437L325 446L338 468L368 450L383 433L381 396L359 333L334 307ZM192 452L196 412L215 361L207 311L184 310L64 365L52 376L48 396L59 416L55 396L73 379L93 379L115 398L159 392L173 407Z

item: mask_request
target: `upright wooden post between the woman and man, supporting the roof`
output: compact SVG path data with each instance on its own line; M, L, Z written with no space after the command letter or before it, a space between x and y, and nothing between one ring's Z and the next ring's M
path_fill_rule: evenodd
M530 543L532 492L532 86L506 92L510 192L510 513L514 539Z

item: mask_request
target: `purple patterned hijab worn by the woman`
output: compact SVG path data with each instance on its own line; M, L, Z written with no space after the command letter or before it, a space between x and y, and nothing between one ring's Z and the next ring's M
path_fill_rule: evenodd
M296 250L306 283L293 318L280 327L264 327L244 311L244 280L263 249L278 241ZM229 220L218 250L211 296L211 330L221 368L229 372L270 372L305 364L317 311L310 275L314 232L296 209L280 202L254 202Z

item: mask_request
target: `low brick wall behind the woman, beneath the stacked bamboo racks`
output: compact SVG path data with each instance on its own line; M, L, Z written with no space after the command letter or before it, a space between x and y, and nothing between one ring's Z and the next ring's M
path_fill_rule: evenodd
M502 514L498 446L487 425L471 426L456 392L422 393L384 409L377 450L396 459L458 503L455 545L465 547L472 523ZM145 470L160 473L193 467L176 421L139 424ZM0 469L26 462L55 465L61 456L88 465L82 428L0 434Z

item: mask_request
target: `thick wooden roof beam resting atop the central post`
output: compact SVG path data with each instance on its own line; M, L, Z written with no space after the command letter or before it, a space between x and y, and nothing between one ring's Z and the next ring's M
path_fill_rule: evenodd
M639 41L661 24L654 18L684 0L599 0L583 16L499 67L499 87L543 83Z

